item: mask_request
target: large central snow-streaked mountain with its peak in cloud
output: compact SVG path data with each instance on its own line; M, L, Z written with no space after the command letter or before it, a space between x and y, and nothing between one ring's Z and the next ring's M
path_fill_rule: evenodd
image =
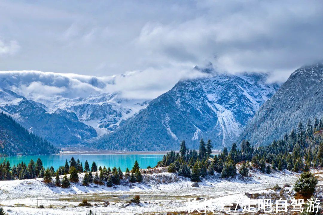
M214 147L232 144L256 110L279 88L264 74L228 75L179 81L113 133L89 141L100 149L170 150L181 140L197 148L200 138Z

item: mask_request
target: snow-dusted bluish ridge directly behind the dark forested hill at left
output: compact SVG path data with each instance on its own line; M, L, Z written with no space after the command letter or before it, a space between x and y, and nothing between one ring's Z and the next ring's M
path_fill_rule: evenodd
M48 113L45 105L4 88L0 88L0 110L56 145L78 144L97 136L95 129L79 122L75 113L61 109Z

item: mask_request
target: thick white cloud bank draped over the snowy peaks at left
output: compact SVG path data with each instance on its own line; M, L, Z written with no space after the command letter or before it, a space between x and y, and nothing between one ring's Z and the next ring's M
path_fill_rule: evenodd
M120 92L123 98L153 99L171 89L179 79L203 75L193 69L178 71L153 68L105 77L41 71L0 71L0 87L39 102L40 99L51 100L55 96L73 99L114 92Z

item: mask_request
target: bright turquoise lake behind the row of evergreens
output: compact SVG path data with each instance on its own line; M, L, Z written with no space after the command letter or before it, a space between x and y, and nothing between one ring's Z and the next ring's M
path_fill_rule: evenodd
M157 162L160 161L163 157L163 154L55 154L55 155L19 155L19 156L11 156L6 158L0 158L0 161L3 162L4 159L9 160L10 165L13 166L14 164L17 165L22 161L29 163L31 159L35 162L37 158L40 158L43 162L43 166L45 168L53 166L55 170L59 166L63 166L65 164L65 160L68 161L71 157L74 157L75 160L78 158L83 164L87 160L89 162L90 168L93 161L99 166L106 166L108 167L120 167L121 170L124 172L126 168L132 168L133 164L137 160L139 163L140 168L147 168L147 166L154 167L156 166Z

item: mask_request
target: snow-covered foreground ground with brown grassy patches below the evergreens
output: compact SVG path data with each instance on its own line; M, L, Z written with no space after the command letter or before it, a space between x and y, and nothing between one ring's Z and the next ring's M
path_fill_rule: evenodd
M187 210L186 202L190 198L213 199L212 208L215 211L223 211L221 204L238 203L240 206L247 205L250 199L246 193L268 193L276 184L283 187L288 183L291 186L298 178L298 174L275 172L263 174L257 170L249 173L251 177L242 179L224 180L218 175L208 177L199 182L199 187L192 187L189 179L179 177L172 173L164 172L144 174L144 182L121 185L108 188L91 184L71 184L70 188L63 189L49 187L41 179L0 181L0 203L5 211L11 215L85 215L89 210L100 214L153 214L170 211ZM323 185L323 173L318 173L320 185ZM80 181L83 174L79 174ZM53 178L54 180L54 178ZM284 188L287 193L292 193L292 187ZM128 204L135 195L140 195L141 204ZM38 196L38 197L37 197ZM78 207L78 204L87 199L92 204L90 208ZM109 205L104 205L109 201ZM203 200L200 200L201 210ZM44 209L36 206L43 205ZM240 210L241 212L241 210ZM157 214L158 214L157 213Z

